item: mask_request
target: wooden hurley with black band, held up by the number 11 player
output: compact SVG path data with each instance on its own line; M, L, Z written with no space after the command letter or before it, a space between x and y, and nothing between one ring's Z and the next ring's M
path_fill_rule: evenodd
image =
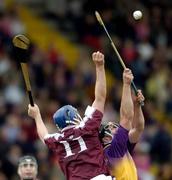
M29 44L30 44L29 39L25 37L24 35L17 35L13 38L13 45L16 48L16 56L17 56L16 58L17 58L17 61L21 65L30 104L31 106L34 106L31 85L30 85L30 80L29 80L29 71L28 71L28 66L27 66L27 61L26 61L27 50L29 48Z

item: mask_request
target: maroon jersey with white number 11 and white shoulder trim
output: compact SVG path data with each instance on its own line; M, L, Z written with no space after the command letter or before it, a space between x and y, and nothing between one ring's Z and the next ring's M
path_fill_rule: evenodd
M102 117L100 111L88 106L80 125L45 137L68 180L90 180L99 174L109 174L98 137Z

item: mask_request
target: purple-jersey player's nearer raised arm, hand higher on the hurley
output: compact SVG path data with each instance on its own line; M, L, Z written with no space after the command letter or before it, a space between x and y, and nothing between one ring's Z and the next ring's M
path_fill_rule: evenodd
M120 125L127 129L131 129L131 122L134 116L134 107L131 96L131 81L133 74L130 69L125 69L123 72L123 89L120 107Z

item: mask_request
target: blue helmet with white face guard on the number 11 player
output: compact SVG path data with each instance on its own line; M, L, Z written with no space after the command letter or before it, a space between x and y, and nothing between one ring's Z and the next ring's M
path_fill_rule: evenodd
M60 108L53 115L54 123L59 130L69 126L77 125L82 121L76 108L71 105L66 105Z

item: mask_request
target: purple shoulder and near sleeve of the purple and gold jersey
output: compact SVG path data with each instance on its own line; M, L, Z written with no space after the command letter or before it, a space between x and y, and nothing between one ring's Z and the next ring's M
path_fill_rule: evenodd
M108 156L121 158L127 152L128 130L119 126L114 134L111 145L105 149Z

